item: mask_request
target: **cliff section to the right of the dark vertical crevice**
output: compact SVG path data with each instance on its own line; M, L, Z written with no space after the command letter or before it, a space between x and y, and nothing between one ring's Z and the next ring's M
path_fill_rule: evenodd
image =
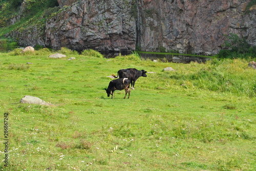
M246 37L255 45L255 12L245 14L249 1L139 0L142 50L216 54L224 34Z

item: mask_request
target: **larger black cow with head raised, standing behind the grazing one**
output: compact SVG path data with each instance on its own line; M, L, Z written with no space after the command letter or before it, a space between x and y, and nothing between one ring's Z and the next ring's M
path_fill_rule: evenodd
M128 78L129 80L131 80L131 86L132 86L131 89L133 90L134 90L134 84L139 77L147 77L145 70L143 69L138 70L135 68L120 69L118 70L117 75L118 76L115 76L115 75L112 75L112 76L115 78L119 77L119 79Z

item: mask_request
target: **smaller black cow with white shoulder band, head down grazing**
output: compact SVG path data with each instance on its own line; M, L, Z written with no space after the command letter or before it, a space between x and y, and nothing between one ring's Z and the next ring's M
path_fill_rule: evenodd
M108 94L108 97L110 96L110 94L112 95L111 99L113 98L113 94L115 90L125 90L125 95L124 98L126 97L126 94L129 93L128 99L130 97L130 84L131 81L127 78L122 78L122 79L116 79L116 80L112 80L109 84L108 89L106 90L106 93Z

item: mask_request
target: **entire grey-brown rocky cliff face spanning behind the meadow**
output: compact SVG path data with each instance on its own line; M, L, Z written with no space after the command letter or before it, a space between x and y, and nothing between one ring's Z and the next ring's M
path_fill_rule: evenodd
M249 0L58 0L62 8L42 35L19 38L59 49L98 51L178 51L217 54L224 35L234 33L256 45L256 10ZM30 39L28 39L30 37ZM38 41L40 40L40 41ZM44 41L41 41L44 40Z

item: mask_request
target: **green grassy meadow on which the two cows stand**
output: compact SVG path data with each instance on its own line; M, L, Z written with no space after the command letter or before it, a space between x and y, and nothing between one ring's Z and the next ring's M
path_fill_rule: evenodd
M0 53L2 149L9 113L0 169L256 170L255 59L177 64L59 53L67 57ZM124 90L110 99L107 76L121 68L151 73L130 99ZM25 95L53 105L19 103Z

